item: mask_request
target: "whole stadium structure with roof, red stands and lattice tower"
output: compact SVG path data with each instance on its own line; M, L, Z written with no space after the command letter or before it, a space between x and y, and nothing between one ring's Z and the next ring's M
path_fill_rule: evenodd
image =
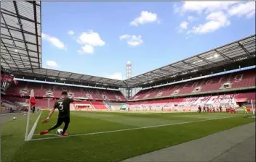
M196 111L198 106L247 106L255 99L255 35L127 79L42 68L41 2L1 1L1 113L39 108L67 90L76 111ZM126 96L126 97L125 97Z

